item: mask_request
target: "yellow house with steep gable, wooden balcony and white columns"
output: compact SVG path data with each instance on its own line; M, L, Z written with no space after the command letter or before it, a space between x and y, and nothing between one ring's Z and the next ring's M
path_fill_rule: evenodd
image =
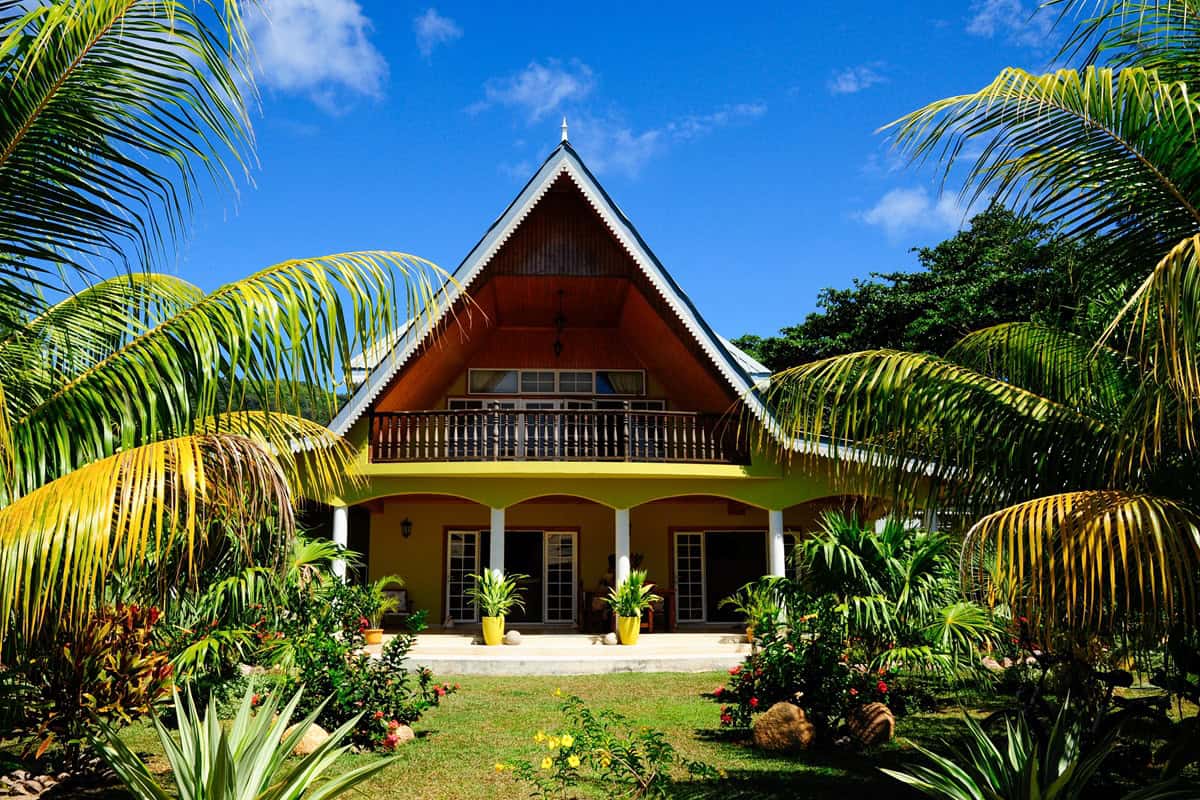
M469 297L469 299L468 299ZM588 627L644 569L656 627L733 621L839 497L750 446L766 367L714 332L565 140L442 289L442 318L366 354L330 427L362 479L334 537L443 625L484 569L529 576L529 626ZM805 462L806 464L809 462Z

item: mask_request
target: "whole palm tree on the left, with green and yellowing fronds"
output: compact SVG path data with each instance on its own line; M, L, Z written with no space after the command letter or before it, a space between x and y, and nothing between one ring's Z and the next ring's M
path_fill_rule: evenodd
M289 537L346 458L302 387L347 386L431 307L436 267L403 253L208 295L148 269L200 176L245 169L246 53L238 0L0 8L0 640L79 621L148 554L194 572L210 524Z

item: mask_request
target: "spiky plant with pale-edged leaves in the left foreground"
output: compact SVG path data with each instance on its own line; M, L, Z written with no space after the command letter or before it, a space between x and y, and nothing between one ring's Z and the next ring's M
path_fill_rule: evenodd
M210 700L206 711L200 715L191 694L185 704L176 693L179 740L161 721L155 720L158 740L170 764L174 794L190 800L335 798L392 762L391 758L380 758L364 764L330 777L316 792L307 794L334 762L350 748L349 744L342 742L361 715L347 720L312 753L296 763L287 763L292 751L320 715L324 703L288 733L292 716L300 704L300 692L283 708L278 708L275 699L266 698L256 710L254 700L256 697L247 692L238 715L227 726L218 717L215 702ZM112 727L100 726L96 747L138 800L167 800L172 796Z

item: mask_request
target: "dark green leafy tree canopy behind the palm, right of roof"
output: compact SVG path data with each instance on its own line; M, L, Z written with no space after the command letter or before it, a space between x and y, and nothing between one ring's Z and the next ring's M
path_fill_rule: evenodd
M914 248L920 269L872 272L822 289L821 311L779 336L736 339L773 372L858 350L944 354L964 335L1008 321L1064 325L1086 296L1098 248L992 205L967 229Z

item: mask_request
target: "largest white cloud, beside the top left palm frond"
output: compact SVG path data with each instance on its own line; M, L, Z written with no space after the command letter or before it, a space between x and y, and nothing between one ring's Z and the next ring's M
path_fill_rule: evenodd
M383 94L388 62L356 0L270 0L247 24L263 85L306 94L330 112L347 95Z

